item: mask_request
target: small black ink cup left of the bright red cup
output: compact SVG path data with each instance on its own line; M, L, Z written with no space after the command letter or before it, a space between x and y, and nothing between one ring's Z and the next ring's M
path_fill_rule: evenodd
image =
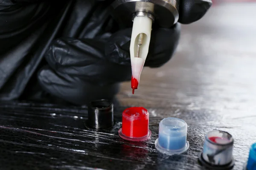
M113 103L106 99L95 100L88 105L88 129L108 129L113 127Z

